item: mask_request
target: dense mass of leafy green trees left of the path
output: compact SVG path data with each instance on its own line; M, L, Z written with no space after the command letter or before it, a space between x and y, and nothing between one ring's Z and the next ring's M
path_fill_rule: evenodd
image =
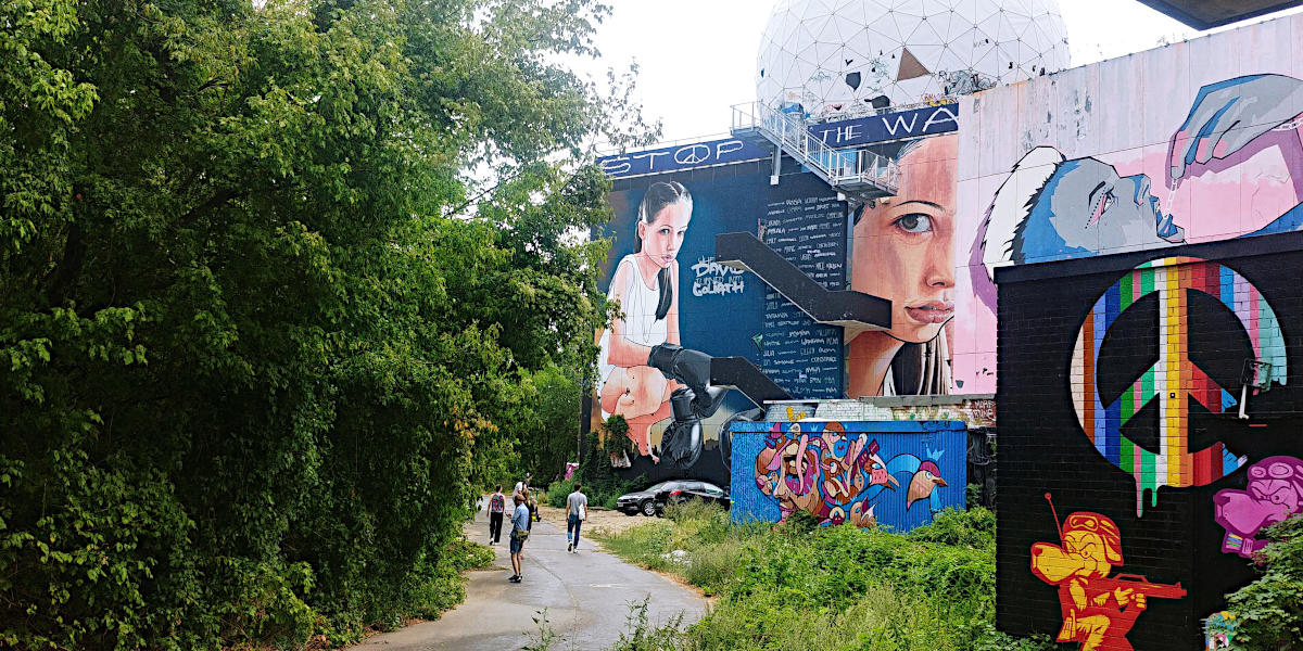
M572 161L641 121L556 61L606 12L0 3L0 646L446 605L472 487L605 318Z

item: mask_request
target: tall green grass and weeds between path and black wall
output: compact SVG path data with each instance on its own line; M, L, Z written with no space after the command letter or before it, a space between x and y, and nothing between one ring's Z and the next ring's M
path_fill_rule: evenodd
M994 514L947 512L908 535L730 522L687 504L603 536L614 553L675 573L718 604L679 650L1038 651L994 621Z

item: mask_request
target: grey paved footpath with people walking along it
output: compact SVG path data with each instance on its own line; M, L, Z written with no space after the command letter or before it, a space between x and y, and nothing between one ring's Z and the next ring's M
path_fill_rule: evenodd
M509 531L511 522L504 522ZM559 527L556 525L560 525ZM487 542L489 521L483 510L465 534ZM547 608L547 618L562 639L554 651L598 651L614 644L624 630L629 603L650 596L648 617L662 624L683 612L693 622L706 609L696 592L672 581L629 565L614 555L597 551L581 540L579 553L566 551L566 522L534 522L525 543L524 581L508 583L511 556L507 533L489 569L470 572L466 600L435 621L414 624L392 633L367 638L351 647L357 651L507 651L529 643L526 633L537 635L533 618Z

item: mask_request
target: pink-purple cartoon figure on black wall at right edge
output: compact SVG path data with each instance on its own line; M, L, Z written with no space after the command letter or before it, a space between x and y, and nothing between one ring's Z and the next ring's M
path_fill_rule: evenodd
M1303 513L1303 461L1295 457L1267 457L1248 466L1243 491L1213 496L1213 518L1226 529L1222 552L1246 559L1267 547L1256 538L1263 529L1295 513Z

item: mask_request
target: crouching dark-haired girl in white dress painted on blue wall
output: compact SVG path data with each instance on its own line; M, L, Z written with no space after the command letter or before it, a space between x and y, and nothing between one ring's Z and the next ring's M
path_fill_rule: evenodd
M692 220L692 195L679 182L648 187L638 206L633 253L620 259L607 299L620 315L598 337L602 419L620 414L638 453L652 453L652 424L670 417L679 383L648 366L657 344L679 344L679 249Z

